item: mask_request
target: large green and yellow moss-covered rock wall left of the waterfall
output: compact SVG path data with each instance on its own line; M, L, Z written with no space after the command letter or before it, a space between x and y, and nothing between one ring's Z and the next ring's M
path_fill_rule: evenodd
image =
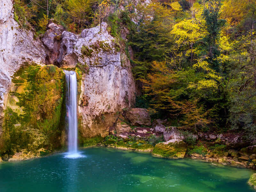
M41 148L62 148L64 93L65 74L60 68L36 64L20 68L5 100L1 154L10 156L27 150L40 156Z

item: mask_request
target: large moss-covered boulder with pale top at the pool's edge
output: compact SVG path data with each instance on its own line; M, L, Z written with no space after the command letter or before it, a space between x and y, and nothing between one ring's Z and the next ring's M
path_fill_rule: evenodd
M152 154L165 158L184 158L187 151L187 145L180 139L172 139L166 142L157 143Z

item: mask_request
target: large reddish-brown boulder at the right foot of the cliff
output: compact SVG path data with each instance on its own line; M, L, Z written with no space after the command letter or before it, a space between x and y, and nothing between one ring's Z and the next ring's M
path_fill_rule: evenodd
M125 112L125 118L131 122L131 125L151 125L151 119L147 109L131 108Z

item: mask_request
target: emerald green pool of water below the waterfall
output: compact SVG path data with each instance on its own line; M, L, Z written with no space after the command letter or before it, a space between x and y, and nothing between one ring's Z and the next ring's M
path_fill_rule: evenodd
M250 192L248 169L214 166L192 159L88 148L83 158L55 154L0 163L0 191L72 192Z

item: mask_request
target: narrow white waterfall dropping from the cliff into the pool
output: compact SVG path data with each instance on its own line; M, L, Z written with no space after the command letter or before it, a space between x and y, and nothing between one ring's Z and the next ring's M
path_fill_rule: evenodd
M66 71L66 120L68 126L68 158L81 157L77 153L77 83L76 72Z

